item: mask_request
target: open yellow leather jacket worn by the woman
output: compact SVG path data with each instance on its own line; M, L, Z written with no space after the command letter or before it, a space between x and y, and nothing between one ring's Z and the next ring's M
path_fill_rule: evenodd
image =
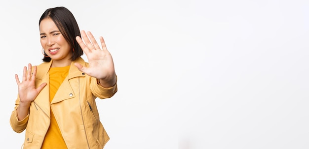
M82 58L74 62L83 66L88 65ZM96 78L79 71L74 62L71 63L69 74L51 103L48 70L52 61L38 65L36 87L44 82L47 85L31 103L29 114L23 120L18 120L16 116L16 109L19 106L17 96L10 124L17 133L26 129L24 149L40 149L50 124L50 108L68 149L103 149L110 139L100 121L95 99L112 97L117 91L117 85L103 88L98 85Z

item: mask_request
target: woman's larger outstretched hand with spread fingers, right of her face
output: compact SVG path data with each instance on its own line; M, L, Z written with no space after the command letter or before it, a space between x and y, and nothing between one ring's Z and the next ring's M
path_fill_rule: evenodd
M86 54L89 65L84 67L79 63L75 63L75 66L87 75L99 79L103 87L114 86L116 83L114 61L106 48L103 37L100 36L101 49L90 31L86 34L84 30L81 30L80 34L83 40L79 36L76 37L76 40Z

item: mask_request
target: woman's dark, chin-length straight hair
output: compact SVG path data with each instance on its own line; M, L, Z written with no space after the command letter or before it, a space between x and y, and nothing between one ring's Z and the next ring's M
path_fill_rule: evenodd
M70 60L76 60L78 57L83 55L83 51L76 41L76 36L80 36L80 30L77 25L77 21L73 16L72 12L65 7L54 7L44 11L42 16L39 18L39 25L45 18L50 18L54 21L63 37L71 45L72 57ZM73 50L74 49L74 50ZM44 53L45 56L47 56ZM50 57L44 57L43 61L50 61Z

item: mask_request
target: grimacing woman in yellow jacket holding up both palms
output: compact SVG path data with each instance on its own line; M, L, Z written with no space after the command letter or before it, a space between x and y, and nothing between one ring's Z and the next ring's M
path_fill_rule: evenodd
M65 7L47 9L39 32L43 62L29 63L28 70L25 66L21 82L15 75L12 129L26 129L24 149L103 149L109 136L95 99L117 91L114 62L103 37L100 47L91 32L79 30ZM80 57L83 52L89 62Z

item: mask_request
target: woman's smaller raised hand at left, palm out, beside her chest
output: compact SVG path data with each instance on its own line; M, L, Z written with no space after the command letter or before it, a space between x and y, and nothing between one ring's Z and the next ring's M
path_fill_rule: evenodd
M31 63L28 64L28 72L27 67L24 67L22 82L19 81L18 75L15 74L16 83L18 85L20 106L29 107L31 102L38 96L39 92L47 85L47 83L42 83L38 88L36 88L35 80L37 75L37 66L34 66L32 75L31 69Z

